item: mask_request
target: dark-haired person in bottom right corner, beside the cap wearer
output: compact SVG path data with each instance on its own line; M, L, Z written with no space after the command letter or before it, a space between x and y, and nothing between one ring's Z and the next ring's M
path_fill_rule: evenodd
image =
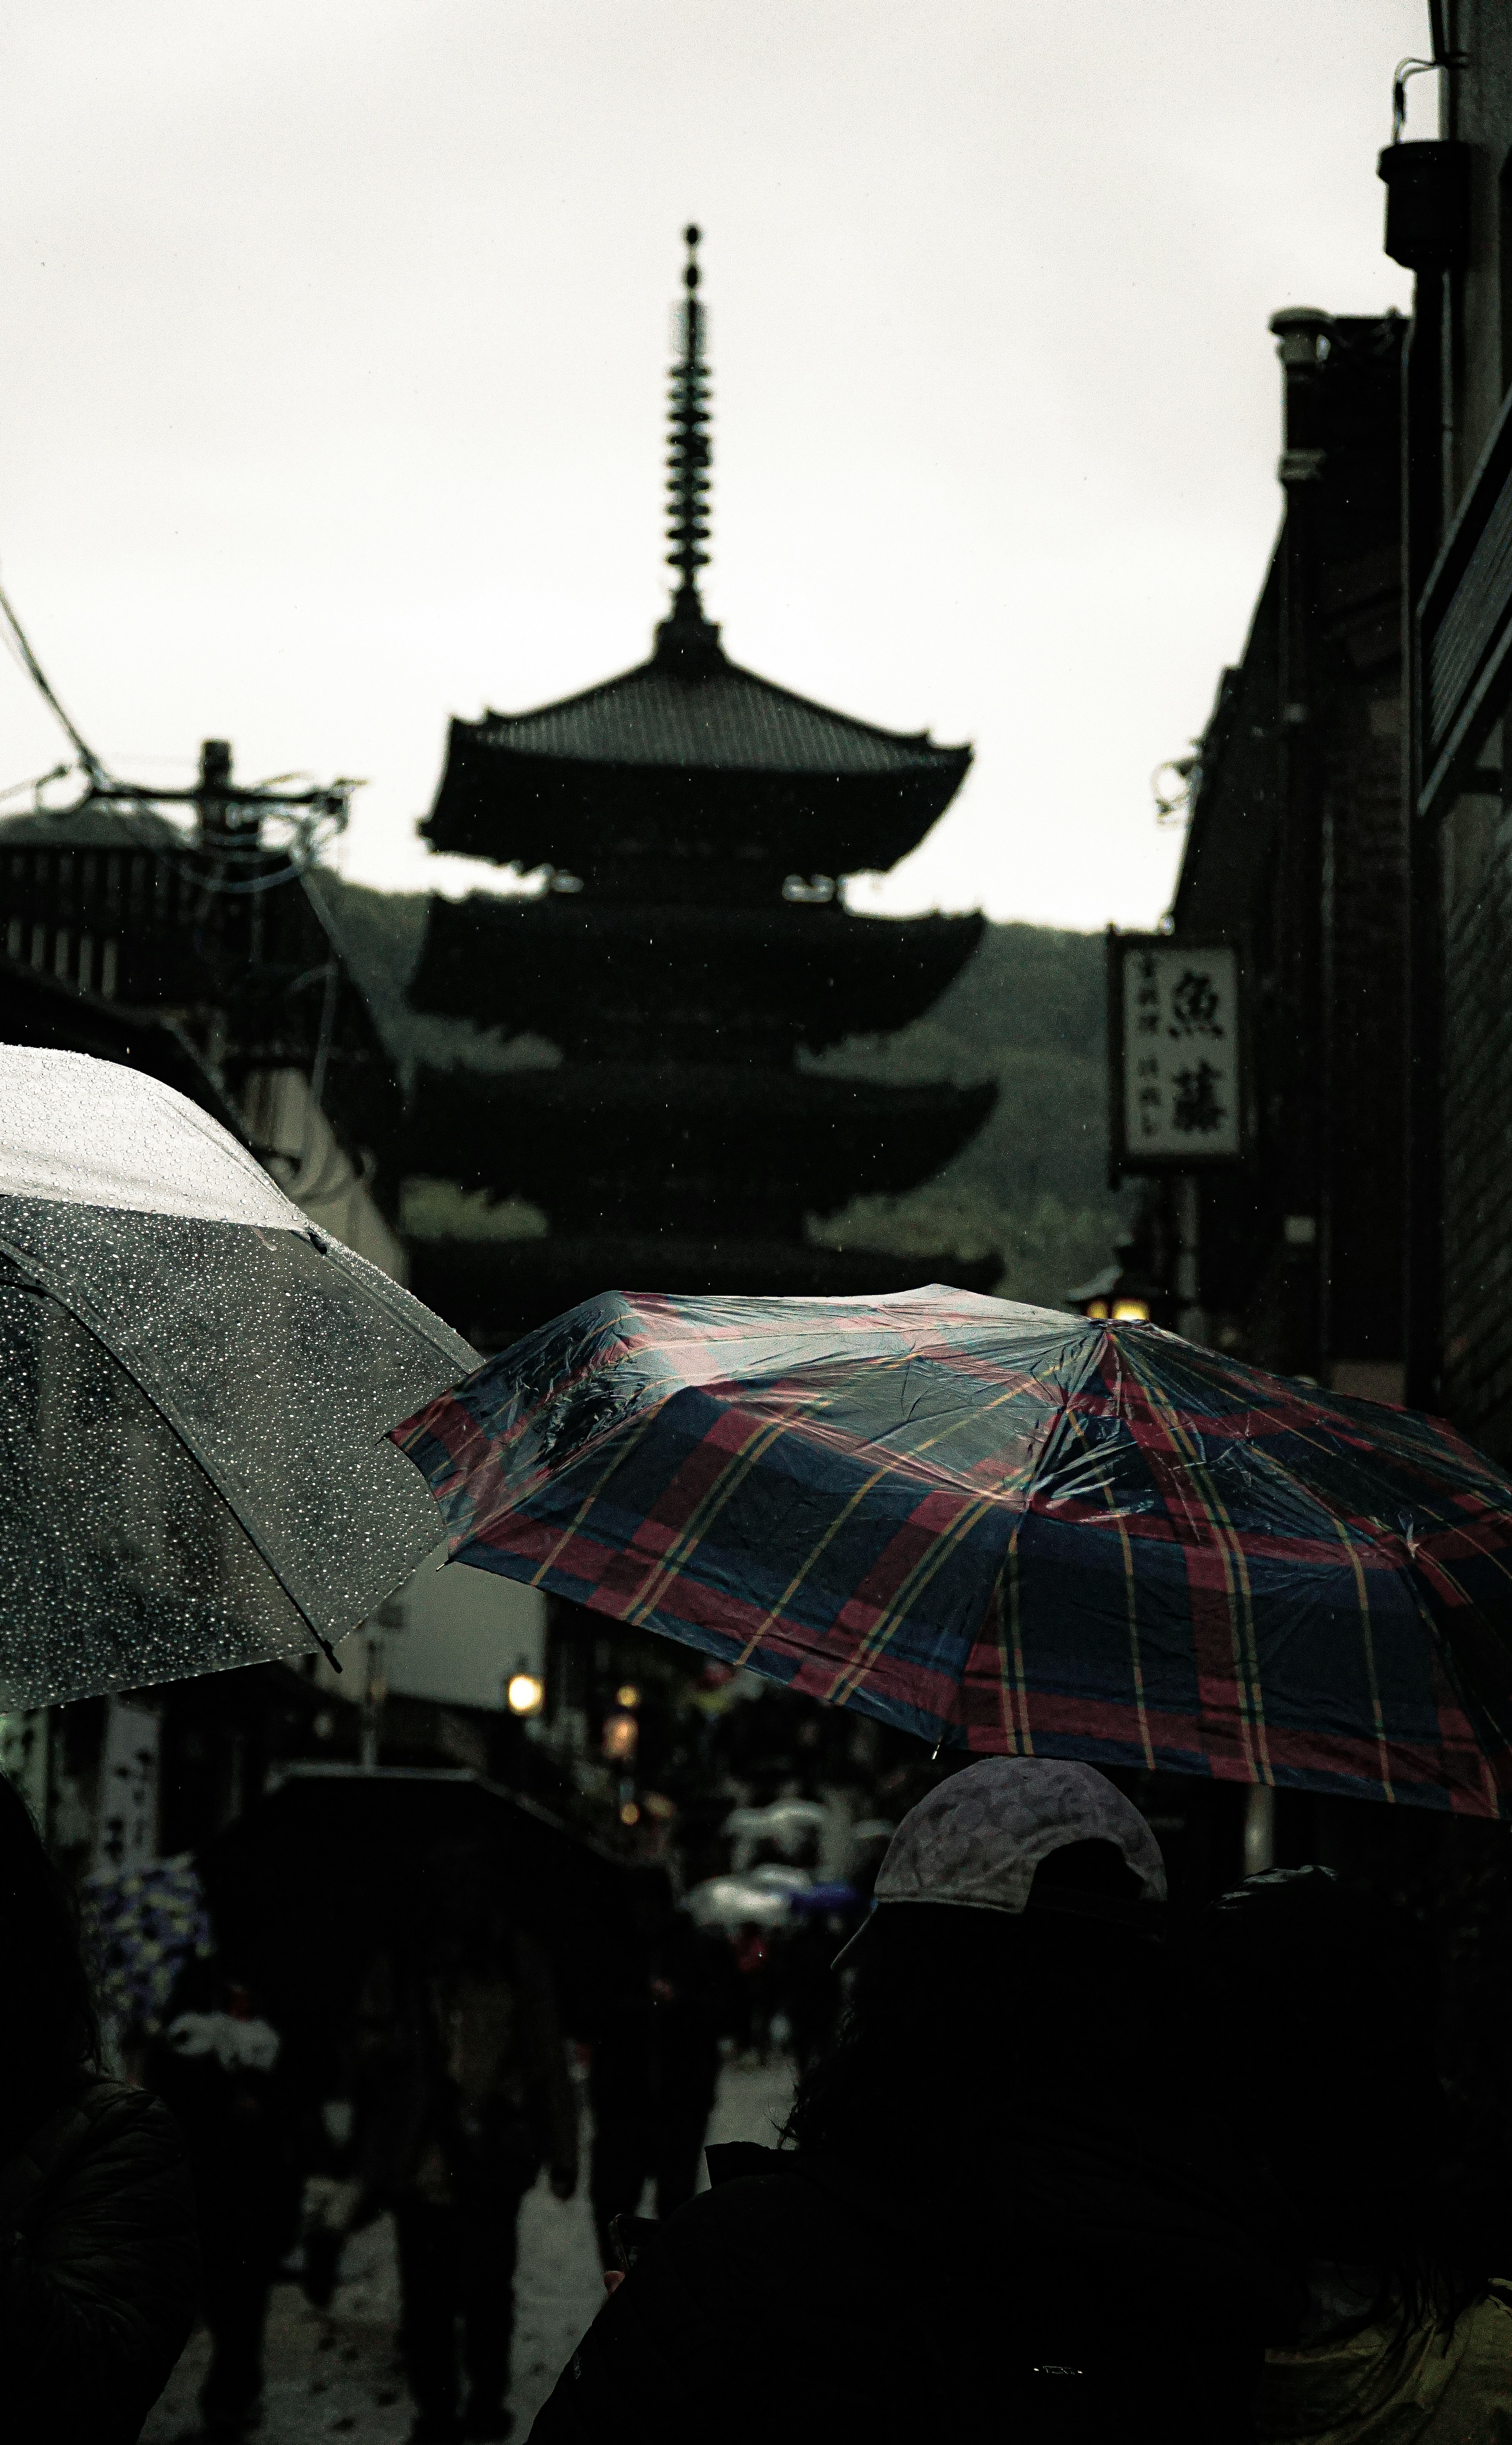
M1453 2130L1434 1993L1407 1912L1329 1868L1248 1878L1190 1946L1192 2071L1287 2200L1307 2267L1297 2347L1265 2362L1263 2438L1512 2438L1507 2166L1495 2130Z

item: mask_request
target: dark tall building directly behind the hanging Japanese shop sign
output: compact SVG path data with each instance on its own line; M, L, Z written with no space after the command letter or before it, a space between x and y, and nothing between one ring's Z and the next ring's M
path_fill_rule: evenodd
M1407 325L1295 308L1273 330L1285 513L1199 741L1170 919L1241 958L1243 1147L1150 1186L1143 1257L1194 1337L1402 1399Z

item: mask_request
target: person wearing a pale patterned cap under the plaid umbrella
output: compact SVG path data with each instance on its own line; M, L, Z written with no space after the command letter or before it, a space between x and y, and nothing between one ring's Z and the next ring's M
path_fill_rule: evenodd
M896 1829L782 2147L638 2254L535 2445L1253 2438L1285 2232L1187 2112L1165 1868L1089 1765L984 1758ZM1275 2210L1280 2213L1280 2210Z

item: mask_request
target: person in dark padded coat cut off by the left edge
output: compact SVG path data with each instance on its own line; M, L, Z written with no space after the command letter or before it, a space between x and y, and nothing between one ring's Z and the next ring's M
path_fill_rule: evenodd
M98 2076L71 1895L0 1778L0 2423L15 2445L134 2445L188 2340L183 2139Z

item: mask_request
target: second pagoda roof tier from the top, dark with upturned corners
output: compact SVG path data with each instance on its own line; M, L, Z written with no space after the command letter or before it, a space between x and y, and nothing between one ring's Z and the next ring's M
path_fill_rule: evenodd
M821 1051L921 1017L975 954L982 924L855 917L777 895L755 907L645 907L589 892L471 892L430 902L408 1000L564 1051L638 1024Z

